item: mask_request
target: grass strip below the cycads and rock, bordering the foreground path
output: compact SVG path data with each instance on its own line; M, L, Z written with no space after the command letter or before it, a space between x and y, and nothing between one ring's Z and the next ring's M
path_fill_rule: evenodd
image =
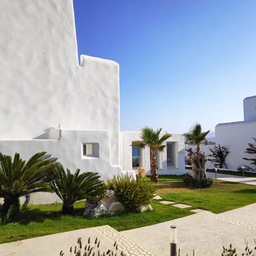
M62 215L61 204L33 205L27 212L22 213L18 222L0 226L0 243L28 239L59 232L66 232L87 227L102 225L112 226L118 231L154 225L175 218L193 214L187 209L179 209L170 205L152 202L153 211L144 213L125 213L117 216L86 219L82 216L84 202L74 205L76 215Z

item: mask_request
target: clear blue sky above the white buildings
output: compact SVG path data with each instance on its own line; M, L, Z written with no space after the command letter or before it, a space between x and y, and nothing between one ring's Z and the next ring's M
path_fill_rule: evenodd
M120 65L120 129L243 120L256 95L256 1L74 0L80 54Z

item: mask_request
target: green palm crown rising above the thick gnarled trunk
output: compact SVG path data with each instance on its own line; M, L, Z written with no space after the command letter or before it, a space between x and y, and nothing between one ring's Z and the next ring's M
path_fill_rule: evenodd
M183 135L186 138L188 138L189 143L191 143L193 145L197 145L197 152L199 152L200 151L200 143L201 143L201 141L205 140L205 138L209 132L210 132L210 130L208 130L204 133L204 131L202 131L202 127L201 127L200 123L195 123L195 125L190 128L190 132L185 133Z

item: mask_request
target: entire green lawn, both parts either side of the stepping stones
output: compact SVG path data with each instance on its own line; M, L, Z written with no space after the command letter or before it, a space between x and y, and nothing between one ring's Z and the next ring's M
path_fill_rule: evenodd
M256 186L217 180L211 188L190 189L184 186L182 177L160 176L159 183L155 185L159 195L164 200L190 204L193 208L207 209L216 214L256 202ZM62 215L61 204L33 205L20 214L19 221L0 226L0 243L101 225L110 225L122 231L193 214L189 209L163 205L156 200L151 205L154 209L152 212L98 219L81 216L84 202L76 203L74 216Z

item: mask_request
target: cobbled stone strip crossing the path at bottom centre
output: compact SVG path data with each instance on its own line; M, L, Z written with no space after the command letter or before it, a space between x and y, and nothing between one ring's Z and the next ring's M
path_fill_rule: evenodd
M110 243L113 244L116 241L118 243L119 250L123 251L127 256L156 256L154 253L150 253L150 251L141 247L133 240L123 236L123 234L120 234L111 226L106 225L93 227L93 229Z

